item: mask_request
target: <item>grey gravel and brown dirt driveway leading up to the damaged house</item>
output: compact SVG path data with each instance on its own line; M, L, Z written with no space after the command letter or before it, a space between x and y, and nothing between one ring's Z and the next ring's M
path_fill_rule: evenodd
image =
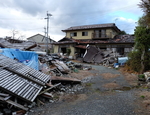
M79 70L70 76L91 77L83 92L63 94L56 103L48 103L29 115L149 115L150 91L138 86L137 74L102 66Z

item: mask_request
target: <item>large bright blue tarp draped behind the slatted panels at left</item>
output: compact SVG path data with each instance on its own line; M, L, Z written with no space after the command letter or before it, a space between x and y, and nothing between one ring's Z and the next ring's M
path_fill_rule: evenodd
M39 70L38 55L35 52L4 48L0 54L11 59L17 59L19 62Z

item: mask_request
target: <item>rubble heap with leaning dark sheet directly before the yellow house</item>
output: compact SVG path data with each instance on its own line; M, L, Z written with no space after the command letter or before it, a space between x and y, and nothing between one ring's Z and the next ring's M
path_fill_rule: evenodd
M101 51L94 46L87 46L86 52L83 56L83 61L87 63L102 64L104 66L124 65L128 60L127 57L122 57L111 50Z

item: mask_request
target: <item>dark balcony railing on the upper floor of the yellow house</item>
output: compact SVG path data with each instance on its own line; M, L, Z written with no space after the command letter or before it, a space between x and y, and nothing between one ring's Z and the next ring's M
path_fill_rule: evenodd
M107 38L112 38L112 34L92 33L92 39L107 39Z

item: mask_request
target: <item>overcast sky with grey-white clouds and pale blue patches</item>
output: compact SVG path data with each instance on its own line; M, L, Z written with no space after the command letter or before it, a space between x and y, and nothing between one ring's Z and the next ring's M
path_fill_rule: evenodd
M49 35L56 41L65 37L61 30L90 24L115 23L120 30L133 34L136 22L143 15L137 6L140 1L1 0L0 37L12 36L13 30L18 31L16 38L44 35L47 11L52 14Z

